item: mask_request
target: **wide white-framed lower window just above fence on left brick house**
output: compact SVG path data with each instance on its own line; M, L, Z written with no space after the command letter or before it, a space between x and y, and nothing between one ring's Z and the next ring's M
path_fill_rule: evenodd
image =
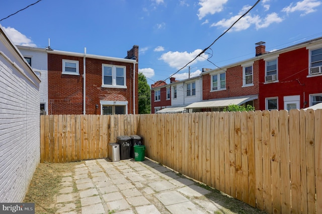
M101 100L101 115L127 115L128 101Z

